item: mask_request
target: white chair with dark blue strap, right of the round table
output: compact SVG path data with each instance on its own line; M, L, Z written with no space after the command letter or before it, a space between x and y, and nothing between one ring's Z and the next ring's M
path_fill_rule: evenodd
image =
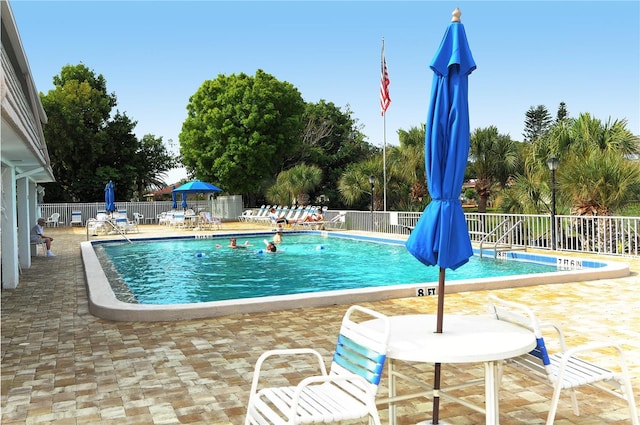
M618 345L612 343L588 343L567 349L562 330L552 323L541 325L533 314L533 311L527 306L505 301L494 295L490 295L489 309L498 320L524 326L535 334L538 341L537 347L524 356L507 360L506 364L513 366L538 382L546 383L553 387L553 397L551 399L551 408L547 415L547 425L552 425L554 422L558 409L558 401L560 400L560 392L562 390L571 391L573 412L576 416L580 416L575 388L582 385L599 388L609 394L626 400L629 405L629 413L631 414L631 423L633 425L640 425L629 371L624 360L622 349ZM560 347L559 353L549 354L547 352L541 331L542 327L555 329ZM616 351L621 372L605 369L577 356L579 353L593 353L604 348L614 349Z

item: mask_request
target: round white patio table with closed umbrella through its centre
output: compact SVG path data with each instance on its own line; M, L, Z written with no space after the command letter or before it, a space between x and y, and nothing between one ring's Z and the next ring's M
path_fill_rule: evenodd
M377 320L365 322L373 328ZM535 336L529 330L488 316L445 315L442 333L436 333L436 316L416 314L391 316L391 336L387 359L389 364L389 397L379 403L389 404L389 423L395 424L396 402L415 397L432 397L433 387L403 375L395 370L396 361L422 363L484 363L485 408L462 400L446 391L475 385L478 381L447 386L441 382L441 398L461 403L485 413L487 425L500 423L498 406L498 368L500 360L528 353L536 346ZM414 394L396 395L397 379L405 379L428 389ZM440 404L442 412L442 404ZM431 412L429 412L431 413ZM442 420L441 424L446 423Z

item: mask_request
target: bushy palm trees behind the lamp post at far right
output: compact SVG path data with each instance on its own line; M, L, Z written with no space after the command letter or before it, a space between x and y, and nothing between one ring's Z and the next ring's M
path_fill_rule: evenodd
M638 153L639 140L627 130L626 120L603 123L583 113L576 119L557 121L526 150L524 174L516 178L508 194L509 211L550 211L547 160L555 156L560 161L556 172L560 213L615 213L640 196L640 167L630 159Z

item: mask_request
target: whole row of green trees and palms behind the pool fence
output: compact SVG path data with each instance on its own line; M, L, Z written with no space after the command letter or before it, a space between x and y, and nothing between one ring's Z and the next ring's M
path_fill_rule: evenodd
M47 202L103 199L112 180L122 200L142 198L166 186L166 173L184 166L190 178L209 181L248 206L320 203L331 208L383 208L383 157L371 145L347 105L305 102L292 84L263 70L218 75L190 97L179 134L180 154L162 137L138 140L137 124L116 109L102 75L83 64L67 65L40 94L49 121L44 128L56 183ZM114 111L115 109L115 111ZM602 122L588 113L556 118L543 105L525 114L524 141L497 127L475 129L466 177L478 210L547 213L546 162L561 166L556 187L559 213L612 214L640 199L640 142L625 120ZM399 129L399 146L386 150L387 207L421 211L430 201L424 164L424 124ZM634 159L636 159L634 161ZM169 182L175 183L175 182Z

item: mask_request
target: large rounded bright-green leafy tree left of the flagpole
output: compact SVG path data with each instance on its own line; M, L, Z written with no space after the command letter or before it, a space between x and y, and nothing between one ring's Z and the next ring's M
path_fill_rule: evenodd
M293 85L262 70L207 80L187 105L182 162L192 175L253 203L288 153L299 151L304 107Z

